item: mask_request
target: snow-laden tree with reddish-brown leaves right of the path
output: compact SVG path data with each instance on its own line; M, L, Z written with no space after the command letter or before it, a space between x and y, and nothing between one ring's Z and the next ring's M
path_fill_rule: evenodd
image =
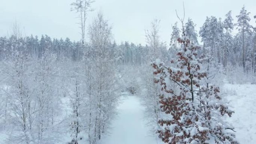
M175 60L177 68L167 67L159 60L152 64L154 82L161 85L162 91L159 138L168 144L238 144L232 129L219 120L224 115L231 117L234 111L222 102L217 86L202 81L207 73L197 55L199 47L185 35L178 42L181 50ZM179 91L174 92L170 83L176 83Z

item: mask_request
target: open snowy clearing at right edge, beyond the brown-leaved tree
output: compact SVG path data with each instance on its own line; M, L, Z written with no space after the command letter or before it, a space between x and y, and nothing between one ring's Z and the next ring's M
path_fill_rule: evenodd
M231 92L226 99L235 111L228 121L235 127L240 144L256 144L256 85L224 86Z

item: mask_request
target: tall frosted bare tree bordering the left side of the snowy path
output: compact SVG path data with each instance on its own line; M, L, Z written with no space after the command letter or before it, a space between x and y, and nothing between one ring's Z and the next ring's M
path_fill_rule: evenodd
M84 59L90 105L88 137L92 144L97 144L107 130L118 99L115 59L111 57L111 30L108 21L99 12L88 31L90 46L85 51Z

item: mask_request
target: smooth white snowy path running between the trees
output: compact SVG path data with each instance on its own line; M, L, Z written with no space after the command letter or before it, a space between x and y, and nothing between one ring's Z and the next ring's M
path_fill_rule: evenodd
M112 122L110 135L102 140L104 144L157 144L156 138L144 120L144 107L136 96L122 97L118 116ZM159 140L158 140L159 144Z

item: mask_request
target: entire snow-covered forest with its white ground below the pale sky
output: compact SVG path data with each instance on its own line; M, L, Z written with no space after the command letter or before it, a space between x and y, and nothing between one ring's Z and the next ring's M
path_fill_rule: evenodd
M116 43L94 3L70 3L76 41L18 22L0 37L0 144L256 143L256 13L197 25L184 3L169 42L152 18L141 45Z

